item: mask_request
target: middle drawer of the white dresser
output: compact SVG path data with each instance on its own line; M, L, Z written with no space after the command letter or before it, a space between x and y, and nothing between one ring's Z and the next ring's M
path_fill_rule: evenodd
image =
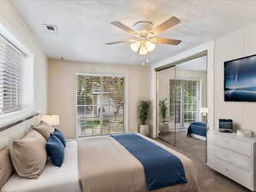
M224 160L225 162L233 166L240 167L241 169L247 172L252 171L251 158L241 154L236 154L236 152L232 152L225 148L219 148L218 146L212 143L209 144L209 148L212 156L215 156L218 159Z

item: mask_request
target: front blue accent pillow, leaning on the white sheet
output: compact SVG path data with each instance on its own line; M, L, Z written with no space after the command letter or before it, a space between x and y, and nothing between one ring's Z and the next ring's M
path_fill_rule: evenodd
M55 166L62 166L64 160L64 145L58 137L50 133L46 143L47 154Z

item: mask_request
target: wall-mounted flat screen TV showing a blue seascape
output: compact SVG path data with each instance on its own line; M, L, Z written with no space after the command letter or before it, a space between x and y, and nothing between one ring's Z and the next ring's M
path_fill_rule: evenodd
M256 55L224 62L224 101L256 102Z

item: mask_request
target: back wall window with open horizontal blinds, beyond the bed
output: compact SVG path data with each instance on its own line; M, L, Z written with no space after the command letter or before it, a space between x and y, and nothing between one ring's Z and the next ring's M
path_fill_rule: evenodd
M77 76L78 137L124 132L124 78Z

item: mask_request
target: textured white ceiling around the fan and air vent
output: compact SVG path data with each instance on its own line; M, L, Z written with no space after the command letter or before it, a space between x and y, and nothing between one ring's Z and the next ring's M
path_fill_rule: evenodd
M129 44L105 45L130 36L111 26L119 20L132 26L150 20L154 26L175 15L182 22L163 32L164 38L183 40L178 46L159 44L149 63L217 38L256 21L254 0L11 0L35 33L49 58L91 63L140 64L145 55ZM44 32L42 24L58 27L58 35Z

